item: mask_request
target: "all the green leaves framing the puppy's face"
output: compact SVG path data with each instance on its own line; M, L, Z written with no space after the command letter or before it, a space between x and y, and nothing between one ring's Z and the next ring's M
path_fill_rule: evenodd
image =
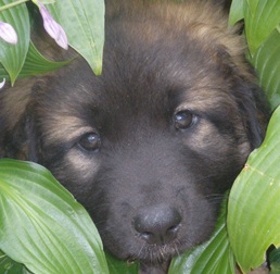
M17 77L64 65L43 58L30 42L25 3L1 11L11 2L0 0L0 21L14 26L18 43L0 41L0 79L14 84ZM104 2L63 0L47 7L65 29L69 45L100 74ZM225 199L212 239L176 258L170 274L233 274L236 261L249 272L265 261L271 245L280 246L280 0L233 0L229 23L241 20L247 59L257 71L273 115L264 144L250 155ZM127 265L103 252L87 212L48 171L7 159L0 160L0 273L7 274L138 272L137 263ZM280 272L279 258L275 249L272 273Z

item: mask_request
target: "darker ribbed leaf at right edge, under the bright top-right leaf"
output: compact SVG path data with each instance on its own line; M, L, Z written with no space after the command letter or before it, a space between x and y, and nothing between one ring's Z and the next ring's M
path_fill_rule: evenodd
M280 34L273 30L250 61L271 108L276 109L280 104Z

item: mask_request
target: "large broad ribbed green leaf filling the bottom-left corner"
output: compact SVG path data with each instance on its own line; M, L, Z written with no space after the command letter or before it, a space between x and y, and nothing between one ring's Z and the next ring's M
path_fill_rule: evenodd
M0 160L0 249L34 273L109 273L86 210L35 163Z

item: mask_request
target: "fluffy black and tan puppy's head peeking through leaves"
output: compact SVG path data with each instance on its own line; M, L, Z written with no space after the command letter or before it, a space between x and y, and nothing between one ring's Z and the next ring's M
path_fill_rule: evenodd
M183 11L115 14L101 76L78 59L1 95L2 155L50 169L110 252L148 265L207 239L224 192L263 138L239 38L211 26L208 9ZM206 22L192 22L193 11Z

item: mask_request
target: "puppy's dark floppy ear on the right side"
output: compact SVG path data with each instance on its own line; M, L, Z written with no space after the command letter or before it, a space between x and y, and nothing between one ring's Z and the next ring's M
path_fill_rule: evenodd
M245 59L236 60L228 52L221 54L224 77L229 80L231 95L236 98L240 115L243 120L251 149L260 146L265 137L269 120L269 105L263 90L257 85L257 78ZM227 58L226 58L227 57Z

